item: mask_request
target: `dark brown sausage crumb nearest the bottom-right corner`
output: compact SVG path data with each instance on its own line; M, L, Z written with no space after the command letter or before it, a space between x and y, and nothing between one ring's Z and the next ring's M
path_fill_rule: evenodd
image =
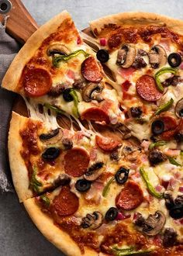
M171 247L177 244L177 232L171 228L167 227L164 230L164 238L163 238L163 244L165 247Z

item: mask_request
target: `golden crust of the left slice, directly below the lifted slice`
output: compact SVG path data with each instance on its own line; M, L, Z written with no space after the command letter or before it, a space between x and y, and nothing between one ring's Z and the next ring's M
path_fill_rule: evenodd
M19 135L19 130L25 126L27 120L27 117L19 116L16 112L12 112L9 127L9 164L12 171L12 181L20 202L33 196L33 192L29 189L26 164L20 154L20 150L22 150L22 138Z

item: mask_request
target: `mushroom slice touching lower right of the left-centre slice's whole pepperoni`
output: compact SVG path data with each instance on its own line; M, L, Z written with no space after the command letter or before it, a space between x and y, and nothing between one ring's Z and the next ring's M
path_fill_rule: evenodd
M95 164L92 164L84 175L85 179L88 181L95 181L95 179L97 179L102 174L103 165L103 162L96 162Z

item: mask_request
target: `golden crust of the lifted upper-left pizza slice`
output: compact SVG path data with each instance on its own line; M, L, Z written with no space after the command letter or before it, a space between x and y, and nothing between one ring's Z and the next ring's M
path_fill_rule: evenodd
M18 92L17 85L26 63L33 57L33 54L35 54L43 40L45 40L47 36L50 36L50 33L54 33L58 26L60 26L60 23L64 22L65 19L71 19L67 11L63 11L53 19L50 19L49 22L41 26L29 37L29 40L27 40L26 44L19 51L19 54L16 55L9 70L6 72L2 80L2 87L12 92Z

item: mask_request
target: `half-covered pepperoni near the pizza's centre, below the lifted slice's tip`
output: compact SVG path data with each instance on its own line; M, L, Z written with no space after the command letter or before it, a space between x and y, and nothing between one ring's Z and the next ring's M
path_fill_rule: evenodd
M98 135L95 137L95 140L98 147L109 152L115 150L116 147L119 147L121 144L118 140L114 140L110 137L99 137Z

